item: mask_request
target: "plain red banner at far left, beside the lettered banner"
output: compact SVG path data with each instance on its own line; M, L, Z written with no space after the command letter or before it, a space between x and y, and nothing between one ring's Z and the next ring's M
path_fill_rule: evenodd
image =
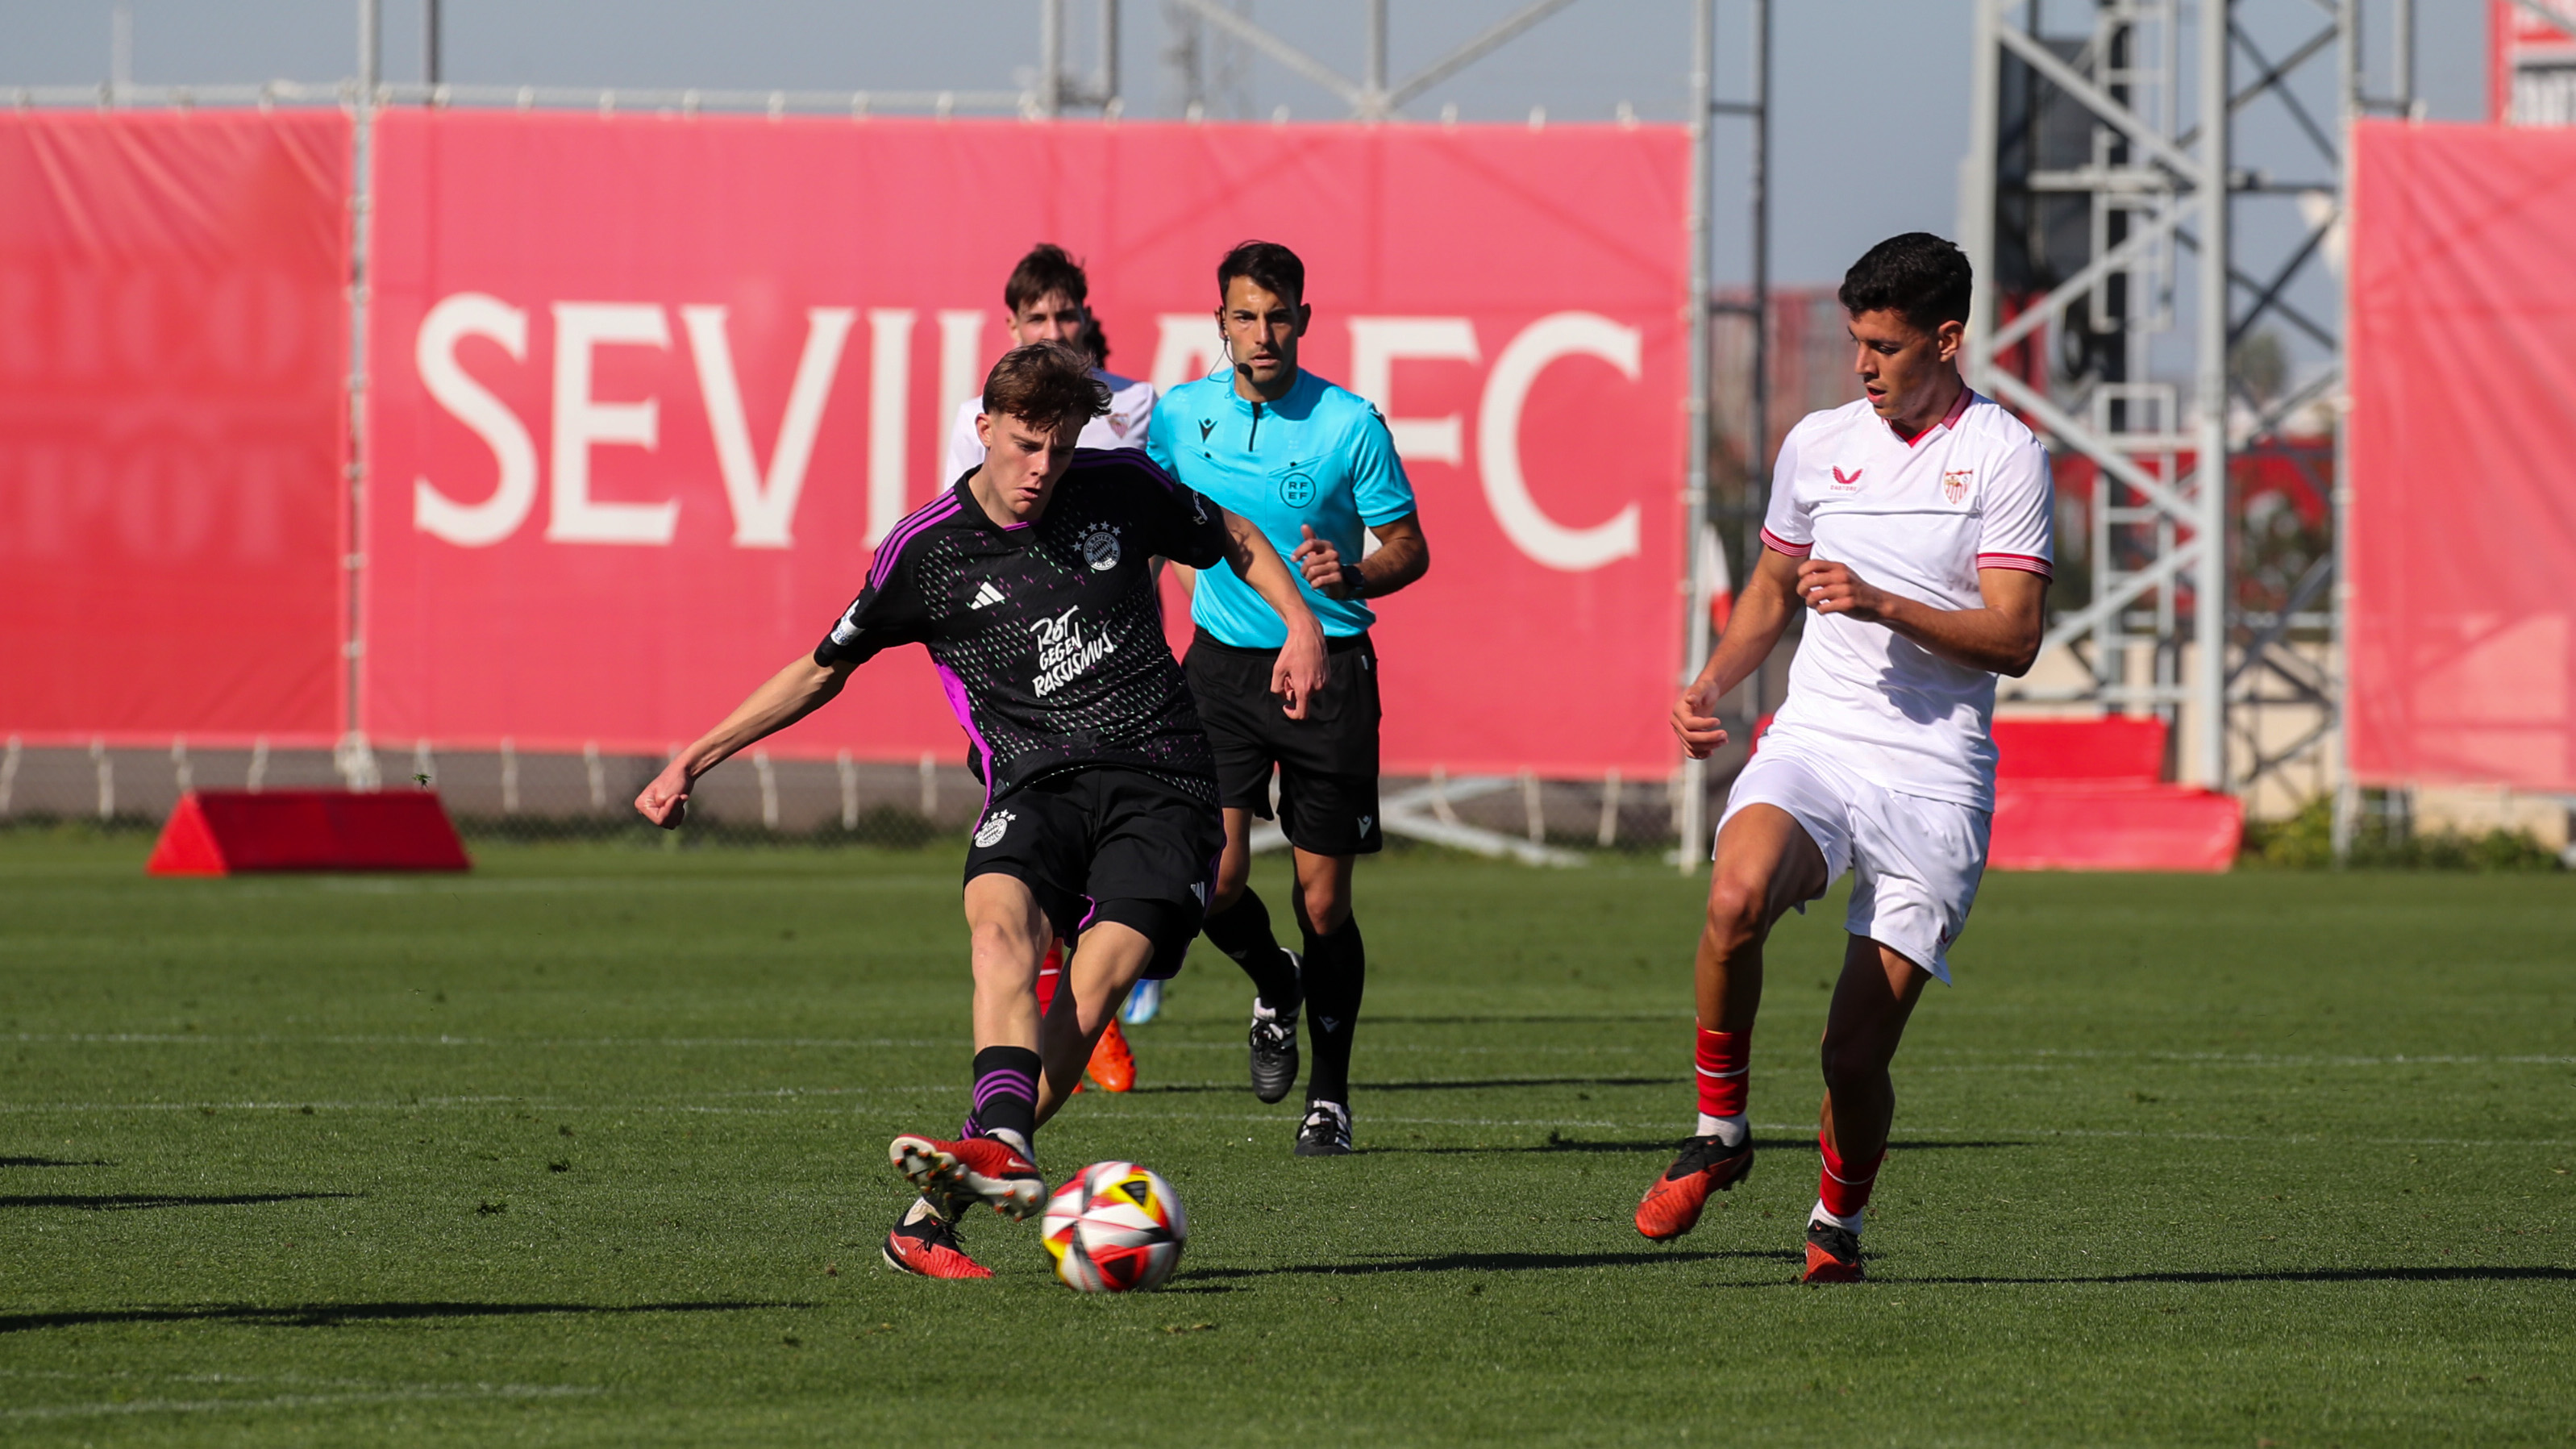
M348 150L0 113L0 730L337 732Z

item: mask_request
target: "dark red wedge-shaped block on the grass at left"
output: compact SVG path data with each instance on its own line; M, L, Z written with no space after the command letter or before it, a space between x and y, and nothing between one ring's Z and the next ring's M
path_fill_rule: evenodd
M188 792L144 864L157 877L464 869L471 869L464 841L425 789Z

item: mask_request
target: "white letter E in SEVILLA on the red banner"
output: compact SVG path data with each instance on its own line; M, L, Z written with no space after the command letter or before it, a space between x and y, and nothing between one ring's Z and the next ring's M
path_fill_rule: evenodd
M554 513L551 544L667 547L680 526L680 500L598 503L590 498L590 449L626 443L654 451L662 405L600 402L590 394L590 356L603 345L670 348L670 322L649 302L554 304Z

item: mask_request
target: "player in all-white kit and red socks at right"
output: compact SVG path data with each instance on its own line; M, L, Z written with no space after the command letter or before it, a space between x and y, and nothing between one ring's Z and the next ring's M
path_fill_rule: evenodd
M1806 1281L1860 1281L1860 1227L1888 1150L1888 1062L1986 871L1994 676L2040 650L2050 572L2048 451L1965 387L1968 258L1906 232L1842 278L1868 397L1780 443L1762 562L1672 706L1690 758L1726 743L1718 699L1808 608L1788 699L1718 820L1700 928L1700 1122L1646 1189L1636 1230L1690 1232L1752 1171L1744 1116L1762 941L1852 871L1842 980L1824 1024L1824 1152Z

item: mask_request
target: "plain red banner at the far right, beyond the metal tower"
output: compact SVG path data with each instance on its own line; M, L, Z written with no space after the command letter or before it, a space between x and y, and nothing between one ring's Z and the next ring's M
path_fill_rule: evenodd
M2576 792L2576 131L2354 144L2352 771Z

